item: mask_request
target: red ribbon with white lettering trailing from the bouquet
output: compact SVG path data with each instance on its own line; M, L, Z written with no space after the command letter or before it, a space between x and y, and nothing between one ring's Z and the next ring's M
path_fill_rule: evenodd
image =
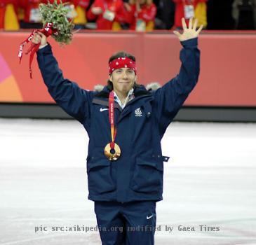
M57 33L57 29L53 29L53 23L50 23L50 22L48 22L45 25L45 27L43 27L43 29L33 30L32 33L29 35L29 37L25 41L20 43L20 50L19 50L19 53L18 53L18 57L20 58L20 63L21 63L21 59L22 59L22 55L23 55L23 48L24 48L24 46L32 40L34 34L36 32L38 32L38 31L41 32L46 37L50 36L51 34ZM35 52L37 50L39 50L40 44L41 43L38 43L38 44L31 43L31 45L30 45L29 49L27 50L27 52L25 52L26 55L30 52L30 57L29 57L29 73L30 73L30 78L32 78L31 64L32 64L33 59L34 59Z

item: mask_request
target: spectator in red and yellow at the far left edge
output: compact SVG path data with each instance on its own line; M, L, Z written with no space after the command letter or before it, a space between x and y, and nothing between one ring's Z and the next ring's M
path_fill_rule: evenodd
M17 0L0 0L0 29L15 31L19 28Z

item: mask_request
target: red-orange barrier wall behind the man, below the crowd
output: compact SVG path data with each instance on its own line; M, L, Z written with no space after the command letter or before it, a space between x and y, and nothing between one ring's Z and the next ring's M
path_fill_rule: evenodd
M53 103L36 62L19 64L18 49L29 33L0 32L0 102ZM180 69L181 45L171 33L88 32L60 47L49 38L64 76L85 89L107 81L109 56L126 50L137 58L138 82L164 84ZM25 47L27 50L28 46ZM187 106L256 106L256 34L201 34L201 75Z

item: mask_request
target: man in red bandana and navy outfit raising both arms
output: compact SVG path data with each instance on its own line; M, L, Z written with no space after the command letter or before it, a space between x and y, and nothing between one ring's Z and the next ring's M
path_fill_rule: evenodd
M161 138L199 75L197 21L182 19L174 33L183 49L180 73L153 92L137 85L135 57L119 52L109 59L109 82L86 91L62 77L43 34L37 52L44 83L55 102L83 124L90 138L87 173L90 200L103 245L154 244L156 202L163 199Z

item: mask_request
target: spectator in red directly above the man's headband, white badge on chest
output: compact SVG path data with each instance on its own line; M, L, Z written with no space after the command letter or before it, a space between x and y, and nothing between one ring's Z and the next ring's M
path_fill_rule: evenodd
M128 21L122 0L95 0L87 12L88 20L96 20L97 29L120 30L121 23Z

